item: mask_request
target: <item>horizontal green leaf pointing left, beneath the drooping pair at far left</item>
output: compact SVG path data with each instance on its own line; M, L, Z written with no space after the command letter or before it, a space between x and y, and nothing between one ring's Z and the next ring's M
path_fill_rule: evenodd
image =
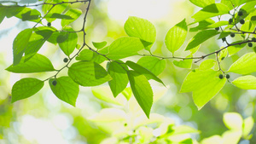
M6 70L15 73L51 72L55 71L50 60L44 55L36 54L30 60L24 62L25 57L18 65L11 65Z

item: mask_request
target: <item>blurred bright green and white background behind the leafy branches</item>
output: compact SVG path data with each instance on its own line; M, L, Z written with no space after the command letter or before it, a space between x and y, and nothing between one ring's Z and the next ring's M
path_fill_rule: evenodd
M86 4L73 4L71 7L84 11ZM40 7L35 9L41 11ZM191 23L193 21L191 15L198 10L199 8L189 3L189 0L92 0L86 22L86 41L90 45L92 45L91 42L102 41L107 41L109 44L118 37L126 36L123 29L125 20L129 16L137 16L151 21L156 27L157 39L152 48L153 53L170 56L171 53L168 52L164 43L166 33L184 18L187 23ZM79 20L73 22L74 30L81 28L83 16L82 14ZM44 23L46 24L45 21ZM5 18L0 24L0 143L100 143L111 135L111 131L101 129L102 127L91 118L94 118L95 114L101 112L103 108L114 107L127 111L127 107L122 103L124 101L122 95L118 100L111 99L111 102L106 102L93 95L91 88L80 87L76 107L72 107L56 98L49 89L49 85L45 84L44 88L36 95L10 103L12 85L20 78L46 79L53 74L15 74L5 71L5 68L12 64L12 43L15 36L22 29L33 25L32 22L21 21L15 17ZM60 28L60 20L55 20L52 26ZM183 48L177 51L177 56L189 55L189 53L183 52L183 49L194 35L195 32L189 32ZM207 54L224 46L224 43L215 39L217 38L203 43L200 51L195 55ZM80 40L82 40L82 35L80 35ZM237 55L224 60L222 65L224 70L227 70L232 61L237 60L247 51L252 51L252 49L244 48ZM44 43L39 53L46 55L53 62L55 68L64 65L62 60L65 55L51 43ZM136 61L139 58L139 56L134 56L129 59ZM198 65L193 64L192 68L196 68ZM201 130L200 134L192 135L197 141L211 135L222 135L225 130L228 130L223 123L224 112L239 112L243 118L249 116L256 118L256 90L238 89L230 83L225 84L224 89L198 111L193 103L191 93L179 93L183 79L189 71L189 69L174 66L172 60L166 61L166 69L159 76L166 84L166 88L150 81L154 87L154 96L158 99L154 102L152 112L171 118L177 125L185 124L196 130ZM61 74L67 73L62 72ZM230 79L236 78L236 75L230 74L230 76ZM108 84L93 88L93 91L95 93L107 91L107 96L112 97ZM255 126L253 130L255 130ZM256 143L255 136L253 135L250 143ZM241 141L241 143L249 143L249 141Z

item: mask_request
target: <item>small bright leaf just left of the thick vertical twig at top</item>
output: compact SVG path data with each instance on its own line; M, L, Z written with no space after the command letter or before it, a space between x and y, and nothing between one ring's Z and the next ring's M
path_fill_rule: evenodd
M72 18L72 20L65 20L65 19L61 20L61 26L65 27L71 24L74 20L77 20L81 14L82 14L82 10L80 9L68 9L65 15L69 15Z

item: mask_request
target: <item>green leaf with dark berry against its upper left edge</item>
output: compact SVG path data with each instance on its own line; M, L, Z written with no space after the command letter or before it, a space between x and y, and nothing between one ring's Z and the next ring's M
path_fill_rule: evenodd
M53 85L52 82L57 84ZM79 96L79 84L73 82L69 77L50 78L49 87L52 92L61 100L75 107L77 98Z

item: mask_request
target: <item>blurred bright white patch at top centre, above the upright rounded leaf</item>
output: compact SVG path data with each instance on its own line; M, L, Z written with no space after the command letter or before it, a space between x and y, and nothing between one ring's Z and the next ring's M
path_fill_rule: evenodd
M171 3L171 0L109 0L108 14L115 20L126 20L130 15L159 20L170 14Z

